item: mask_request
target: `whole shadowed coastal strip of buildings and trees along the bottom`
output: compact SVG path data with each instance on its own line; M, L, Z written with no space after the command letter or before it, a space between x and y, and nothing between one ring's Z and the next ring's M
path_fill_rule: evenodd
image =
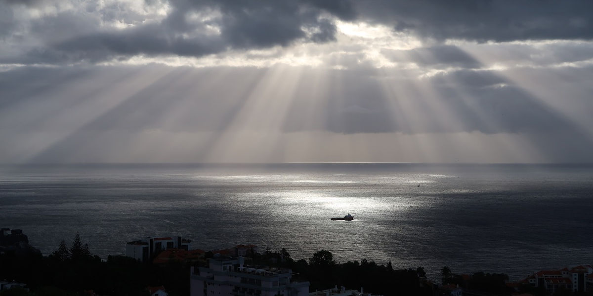
M444 266L437 281L428 279L422 267L394 270L391 262L384 266L365 259L340 264L327 250L320 250L309 260L294 260L286 249L262 250L254 244L204 251L180 236L133 240L126 243L125 256L104 260L88 252L79 234L71 248L62 242L58 250L43 257L22 230L1 229L0 260L0 295L593 295L592 265L535 271L514 282L504 274L454 274ZM60 280L44 282L34 272L43 266L33 262L46 268L66 266L79 273L62 269L65 274L60 274L56 267L53 276ZM92 275L86 276L120 283L107 288L85 278L91 266ZM109 270L116 277L99 274ZM137 281L128 274L132 270L144 280Z

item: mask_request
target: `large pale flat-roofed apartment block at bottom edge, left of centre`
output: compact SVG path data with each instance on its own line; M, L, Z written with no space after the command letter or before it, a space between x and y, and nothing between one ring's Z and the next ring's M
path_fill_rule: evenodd
M309 282L291 282L290 269L243 266L243 257L215 256L209 267L192 268L191 296L308 296Z

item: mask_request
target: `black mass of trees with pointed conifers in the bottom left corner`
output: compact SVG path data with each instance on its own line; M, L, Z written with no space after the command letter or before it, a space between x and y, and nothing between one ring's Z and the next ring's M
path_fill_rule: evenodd
M100 295L145 296L149 285L164 285L171 296L189 295L189 266L179 262L155 266L125 256L103 261L88 252L78 234L69 249L62 242L46 257L5 253L0 255L0 266L0 279L23 282L33 295L78 295L93 290ZM12 295L7 293L0 295Z

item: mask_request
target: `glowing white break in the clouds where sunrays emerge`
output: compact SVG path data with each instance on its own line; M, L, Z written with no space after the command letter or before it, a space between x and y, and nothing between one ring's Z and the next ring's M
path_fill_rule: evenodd
M213 12L214 13L214 12ZM213 18L216 18L214 14ZM208 21L209 14L189 14L195 21ZM167 66L191 67L272 67L288 65L295 67L329 67L349 69L350 67L410 67L407 61L392 62L381 50L410 50L422 46L419 38L406 33L397 33L385 25L371 25L366 22L345 22L332 20L336 24L336 41L329 43L295 42L290 46L275 46L267 49L228 50L204 57L133 56L127 60L112 60L100 65L147 65L158 63ZM304 28L307 30L306 28ZM212 34L219 28L209 27Z

